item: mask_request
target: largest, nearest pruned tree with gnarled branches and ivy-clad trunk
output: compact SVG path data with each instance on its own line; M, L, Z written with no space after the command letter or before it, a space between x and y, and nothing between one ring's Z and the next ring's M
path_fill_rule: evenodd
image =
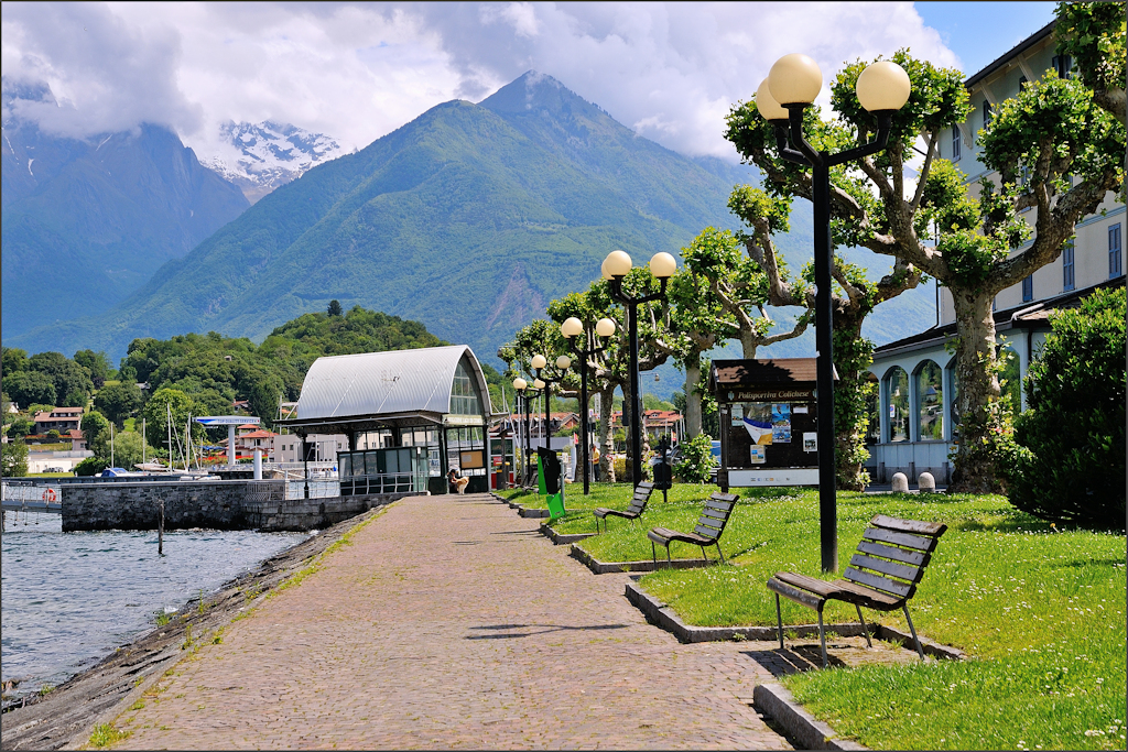
M1001 488L995 437L1007 433L1008 425L999 401L992 302L999 291L1055 260L1076 223L1096 211L1108 192L1121 189L1125 127L1094 101L1084 82L1047 72L1042 80L1028 83L1016 97L1002 103L988 129L980 132L980 159L997 170L997 183L985 179L976 200L967 194L963 175L936 157L941 133L963 122L970 112L962 76L915 60L906 51L892 60L909 74L913 96L893 115L889 148L860 160L860 172L844 169L831 177L836 245L858 245L890 256L892 273L876 285L863 285L836 264L835 280L852 303L862 303L855 310L863 316L881 300L916 285L922 273L935 276L951 291L961 416L952 486L995 490ZM858 61L836 77L831 103L837 121L822 123L814 108L808 112L821 148L865 141L873 133L874 118L854 95L864 68ZM734 108L729 134L746 158L767 174L770 195L766 197L809 197L809 176L778 159L770 126L754 115L754 105ZM918 138L924 160L914 186L905 174ZM1069 175L1075 180L1066 180ZM1028 207L1036 210L1032 228L1017 215ZM763 212L747 214L746 220L755 227ZM938 242L932 240L937 230ZM760 238L765 271L772 275L763 240L769 235L759 231L754 236ZM1028 240L1029 246L1022 247ZM779 294L773 290L773 295ZM840 375L838 348L848 347L852 340L841 334L844 328L836 319ZM847 370L855 371L855 364Z

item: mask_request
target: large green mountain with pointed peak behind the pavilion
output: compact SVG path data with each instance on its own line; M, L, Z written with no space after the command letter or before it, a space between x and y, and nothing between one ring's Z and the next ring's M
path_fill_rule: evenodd
M518 98L523 108L506 106ZM706 224L731 225L732 175L711 167L529 73L310 170L106 315L12 344L122 354L138 336L262 338L335 298L418 319L492 359L552 298L587 286L609 250L645 260Z

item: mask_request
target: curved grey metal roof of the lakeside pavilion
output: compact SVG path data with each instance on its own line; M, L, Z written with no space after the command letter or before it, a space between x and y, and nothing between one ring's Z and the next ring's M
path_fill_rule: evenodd
M466 345L449 345L318 357L301 384L297 421L444 415L450 413L455 370L464 355L488 415L490 389L478 359Z

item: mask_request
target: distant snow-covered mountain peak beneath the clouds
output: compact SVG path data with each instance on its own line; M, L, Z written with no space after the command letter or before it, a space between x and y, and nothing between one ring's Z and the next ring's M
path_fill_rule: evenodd
M220 138L222 145L204 166L239 186L253 204L310 168L344 153L324 133L310 133L289 123L229 121L220 126Z

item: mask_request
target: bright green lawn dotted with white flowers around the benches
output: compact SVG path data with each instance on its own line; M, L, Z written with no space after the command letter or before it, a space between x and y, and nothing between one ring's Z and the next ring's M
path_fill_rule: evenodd
M691 530L700 501L714 490L675 488L669 504L652 498L642 521L613 520L608 533L580 546L603 561L650 558L646 529ZM603 505L623 508L629 488L602 493ZM730 566L642 580L688 623L773 625L767 578L779 569L819 576L817 494L741 495L722 538ZM972 660L785 679L801 702L840 734L879 749L1125 749L1123 534L1057 531L1003 496L841 493L839 565L879 512L949 525L909 608L922 634ZM554 527L590 532L593 523L570 515ZM675 543L673 555L700 552ZM856 620L852 607L831 603L826 612L830 622ZM814 612L784 601L783 618L811 623ZM866 618L906 628L899 613Z

